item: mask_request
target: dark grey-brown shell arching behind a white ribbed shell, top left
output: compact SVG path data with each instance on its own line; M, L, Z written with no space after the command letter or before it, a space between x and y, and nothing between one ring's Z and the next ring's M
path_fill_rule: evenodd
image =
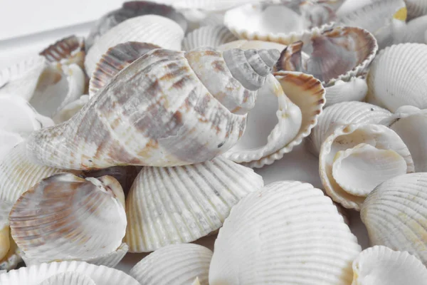
M164 16L176 21L182 30L186 31L187 24L184 16L172 6L156 4L153 1L128 1L123 3L122 8L110 11L97 20L95 26L90 29L88 38L86 38L86 51L89 51L93 44L111 28L127 19L149 14Z

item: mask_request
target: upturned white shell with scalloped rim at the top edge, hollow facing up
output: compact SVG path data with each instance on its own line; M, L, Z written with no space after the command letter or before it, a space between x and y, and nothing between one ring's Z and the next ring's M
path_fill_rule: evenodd
M300 2L238 6L226 12L224 24L238 38L285 45L306 41L315 31L332 28L334 13L330 8L318 5L313 8L308 1ZM320 22L312 22L318 20Z

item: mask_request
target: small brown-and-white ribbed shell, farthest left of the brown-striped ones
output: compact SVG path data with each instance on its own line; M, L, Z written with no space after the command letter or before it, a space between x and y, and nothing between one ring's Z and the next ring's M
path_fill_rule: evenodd
M39 53L50 63L60 65L77 64L80 68L85 68L85 41L84 38L68 36L53 43Z

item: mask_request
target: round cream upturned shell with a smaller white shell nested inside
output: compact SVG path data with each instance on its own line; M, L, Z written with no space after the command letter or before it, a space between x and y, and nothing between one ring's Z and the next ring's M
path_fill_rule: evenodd
M414 172L411 153L384 125L352 124L334 129L319 155L322 185L335 202L360 210L374 188L396 175Z

